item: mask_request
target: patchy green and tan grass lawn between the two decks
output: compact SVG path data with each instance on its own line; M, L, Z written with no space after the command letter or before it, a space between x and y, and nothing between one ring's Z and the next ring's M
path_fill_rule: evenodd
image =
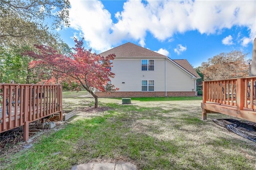
M105 111L86 92L63 92L64 110L78 114L58 130L41 135L32 148L1 155L1 166L14 169L71 169L88 162L124 161L143 170L256 169L256 143L202 121L202 98L100 98Z

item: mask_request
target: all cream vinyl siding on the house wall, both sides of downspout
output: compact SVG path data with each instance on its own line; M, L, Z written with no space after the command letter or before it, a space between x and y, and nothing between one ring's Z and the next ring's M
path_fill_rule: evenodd
M119 92L141 92L142 80L154 80L154 91L165 91L165 59L154 59L154 71L142 71L141 59L114 59L111 78L112 84ZM157 84L156 84L157 82ZM191 92L195 88L192 75L172 63L166 61L166 91Z

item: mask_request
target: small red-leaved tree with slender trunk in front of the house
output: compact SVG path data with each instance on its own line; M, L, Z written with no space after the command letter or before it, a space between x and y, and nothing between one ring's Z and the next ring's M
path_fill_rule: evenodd
M93 88L102 92L115 91L113 84L108 84L110 78L114 78L111 72L111 61L115 55L111 54L106 57L91 53L91 49L86 50L83 47L83 40L74 39L76 45L74 53L69 57L59 54L56 50L45 45L35 45L38 52L29 51L25 55L33 57L35 60L30 62L30 68L45 68L45 73L49 74L44 83L61 83L62 81L79 82L95 100L94 107L98 107L98 96ZM106 85L108 88L106 88Z

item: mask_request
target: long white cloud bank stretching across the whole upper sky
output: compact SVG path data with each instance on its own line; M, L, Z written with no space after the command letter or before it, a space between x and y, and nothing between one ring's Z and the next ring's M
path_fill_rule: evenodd
M112 14L115 22L100 1L70 0L70 4L70 27L82 31L88 45L98 51L124 39L144 47L147 33L169 41L175 33L197 30L209 35L238 25L248 27L250 34L242 45L253 42L256 35L256 1L127 1L122 11Z

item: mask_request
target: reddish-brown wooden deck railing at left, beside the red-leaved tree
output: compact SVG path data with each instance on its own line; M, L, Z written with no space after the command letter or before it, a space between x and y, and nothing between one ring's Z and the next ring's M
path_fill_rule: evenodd
M51 84L0 83L0 133L22 126L28 140L30 122L60 113L62 87Z

